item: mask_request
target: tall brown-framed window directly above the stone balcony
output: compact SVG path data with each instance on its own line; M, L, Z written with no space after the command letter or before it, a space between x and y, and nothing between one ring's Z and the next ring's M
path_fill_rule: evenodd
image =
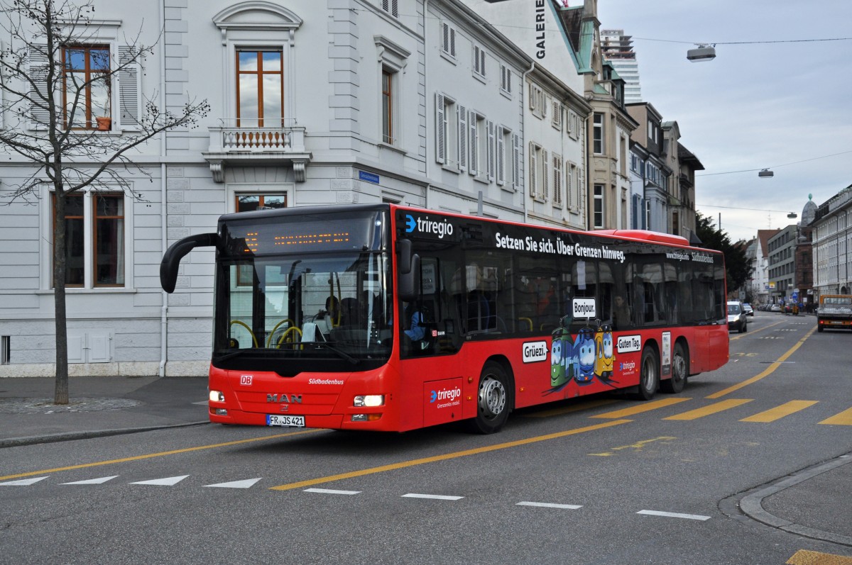
M237 127L281 128L284 66L280 50L237 50Z

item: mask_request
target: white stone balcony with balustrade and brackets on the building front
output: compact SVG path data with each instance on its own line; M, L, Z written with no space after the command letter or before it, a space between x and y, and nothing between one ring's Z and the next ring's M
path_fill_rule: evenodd
M204 158L216 182L223 182L226 166L263 164L291 164L296 181L303 182L311 154L305 151L305 128L222 125L210 128L210 148Z

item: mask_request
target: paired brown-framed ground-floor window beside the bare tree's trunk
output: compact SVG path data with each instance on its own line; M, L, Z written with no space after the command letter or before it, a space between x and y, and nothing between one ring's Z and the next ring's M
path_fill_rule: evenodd
M66 286L124 286L124 193L73 193L65 198ZM55 222L55 194L52 204Z

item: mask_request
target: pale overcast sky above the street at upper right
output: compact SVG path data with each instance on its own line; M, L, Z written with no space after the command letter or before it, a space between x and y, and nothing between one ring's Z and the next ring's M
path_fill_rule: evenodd
M852 40L723 44L852 37L849 0L598 0L598 17L634 37L642 101L677 122L705 167L696 208L732 240L852 184ZM690 43L716 59L688 61Z

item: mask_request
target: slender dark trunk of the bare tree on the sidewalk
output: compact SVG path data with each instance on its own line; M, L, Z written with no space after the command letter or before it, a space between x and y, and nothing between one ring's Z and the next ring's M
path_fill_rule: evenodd
M68 403L68 328L65 303L65 204L66 193L55 183L53 281L56 327L56 380L54 403Z

